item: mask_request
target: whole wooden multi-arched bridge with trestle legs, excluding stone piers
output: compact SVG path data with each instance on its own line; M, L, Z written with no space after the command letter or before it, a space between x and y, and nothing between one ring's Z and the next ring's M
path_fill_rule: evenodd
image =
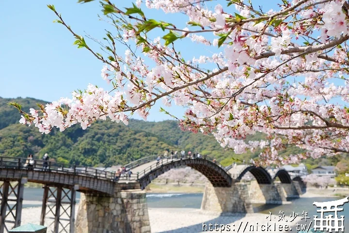
M127 172L116 177L114 172L90 167L33 160L27 158L0 157L0 233L8 232L21 222L23 185L26 182L41 183L44 188L41 225L51 225L55 233L74 232L76 191L89 196L114 197L125 189L144 189L152 180L179 166L190 166L207 177L213 187L229 188L250 172L256 182L272 184L276 177L281 183L292 183L285 170L278 170L271 177L266 169L256 166L224 167L208 156L171 155L160 160L148 156L125 165ZM301 178L297 178L301 182ZM9 204L13 202L14 204ZM65 216L65 217L63 217ZM68 230L69 229L69 230Z

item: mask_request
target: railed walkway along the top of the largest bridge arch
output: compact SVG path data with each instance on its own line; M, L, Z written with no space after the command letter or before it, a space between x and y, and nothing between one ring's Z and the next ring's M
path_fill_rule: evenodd
M217 162L215 159L212 159L206 155L197 157L197 155L193 155L193 154L174 154L172 156L168 156L166 158L162 158L159 160L159 162L157 162L156 164L153 164L147 168L145 168L143 171L138 172L137 174L120 174L120 176L118 178L116 178L117 181L138 181L140 178L142 178L144 175L148 174L149 172L151 172L154 169L157 169L160 166L165 166L168 165L170 163L172 163L173 161L178 161L181 159L206 159L209 160L213 163L215 163L217 166L221 167L223 170L225 170L225 167L222 166L219 162ZM155 160L155 159L154 159ZM151 161L154 161L151 160ZM149 161L150 162L150 161Z

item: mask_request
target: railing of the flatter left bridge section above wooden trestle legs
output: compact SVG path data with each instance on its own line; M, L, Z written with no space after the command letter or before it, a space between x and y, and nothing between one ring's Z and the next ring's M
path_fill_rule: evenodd
M39 171L50 171L59 173L69 173L80 176L88 176L99 179L113 180L115 175L112 172L95 169L92 167L77 167L70 164L58 163L54 161L46 161L39 159L32 159L32 162L27 158L15 157L0 157L0 169L28 169Z

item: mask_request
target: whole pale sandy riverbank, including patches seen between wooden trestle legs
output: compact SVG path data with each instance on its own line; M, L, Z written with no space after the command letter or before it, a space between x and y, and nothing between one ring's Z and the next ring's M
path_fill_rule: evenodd
M76 216L79 209L79 205L76 205ZM238 230L238 226L242 222L246 224L259 225L266 223L276 222L276 226L280 223L276 219L272 219L271 222L266 220L266 214L226 214L201 211L200 209L192 208L148 208L149 221L152 233L199 233L203 232L203 222L208 224L223 224L225 226L229 224L231 231ZM39 224L41 215L41 207L24 208L22 210L22 225L26 223ZM288 216L286 216L288 218ZM286 224L286 223L283 223ZM235 227L234 227L235 225ZM292 227L293 225L291 225ZM255 227L255 226L254 226ZM220 227L219 227L220 228ZM242 229L241 229L242 230ZM208 230L209 231L209 230ZM220 231L221 232L221 231ZM228 231L222 231L228 232ZM245 232L259 232L254 229L250 229ZM283 232L283 231L277 231Z

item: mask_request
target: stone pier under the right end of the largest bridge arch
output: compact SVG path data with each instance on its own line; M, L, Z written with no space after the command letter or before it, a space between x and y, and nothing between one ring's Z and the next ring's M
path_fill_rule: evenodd
M245 183L233 183L232 187L213 187L206 183L201 209L213 212L253 213Z

